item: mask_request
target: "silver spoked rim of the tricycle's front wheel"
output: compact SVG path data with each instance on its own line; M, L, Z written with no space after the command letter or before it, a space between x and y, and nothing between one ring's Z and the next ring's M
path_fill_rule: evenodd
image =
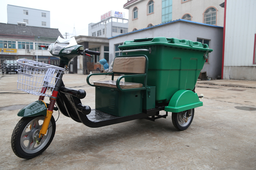
M47 130L46 135L44 135L40 144L38 145L35 141L35 136L39 138L39 132L42 128L44 122L44 116L36 117L30 121L24 128L20 137L20 146L22 150L26 153L36 153L40 151L49 142L52 135L52 127ZM49 126L52 122L49 123Z

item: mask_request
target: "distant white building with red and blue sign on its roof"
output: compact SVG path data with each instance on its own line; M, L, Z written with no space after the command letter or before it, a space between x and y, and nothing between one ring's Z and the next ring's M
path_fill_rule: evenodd
M88 36L113 37L128 32L128 19L125 13L119 11L108 11L101 15L101 21L88 25Z

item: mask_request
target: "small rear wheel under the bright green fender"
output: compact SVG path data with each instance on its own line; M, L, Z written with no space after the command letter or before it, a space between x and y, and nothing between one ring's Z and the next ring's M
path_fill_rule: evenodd
M190 109L179 113L172 113L172 124L177 130L186 130L193 121L194 113L195 109ZM189 116L189 114L191 114L191 116ZM184 120L185 117L187 122Z

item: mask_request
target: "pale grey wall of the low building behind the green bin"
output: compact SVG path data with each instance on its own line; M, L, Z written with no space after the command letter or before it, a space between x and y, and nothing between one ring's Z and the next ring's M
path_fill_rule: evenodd
M184 21L168 23L162 26L147 28L143 31L137 31L127 35L110 38L110 63L113 61L114 58L115 44L122 43L125 40L151 37L175 37L178 39L186 39L192 41L196 41L197 38L204 38L210 40L210 48L213 49L213 51L209 54L209 62L204 65L202 71L207 71L207 76L211 78L221 76L223 28L217 26L205 26Z

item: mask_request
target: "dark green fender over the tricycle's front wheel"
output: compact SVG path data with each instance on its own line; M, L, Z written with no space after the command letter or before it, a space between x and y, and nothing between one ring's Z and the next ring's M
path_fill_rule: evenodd
M25 106L17 114L17 116L20 117L31 117L38 115L47 116L47 107L45 106L44 102L40 100L32 102L29 105Z

